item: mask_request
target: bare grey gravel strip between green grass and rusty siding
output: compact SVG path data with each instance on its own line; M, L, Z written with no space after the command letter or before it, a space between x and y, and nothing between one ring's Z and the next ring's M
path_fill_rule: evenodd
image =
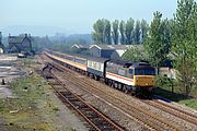
M83 121L79 119L79 116L76 116L72 110L70 110L59 100L51 87L47 88L45 93L48 99L47 103L55 105L58 111L56 111L56 114L51 114L49 110L46 111L46 104L44 102L39 103L38 108L40 108L40 110L45 110L42 111L43 119L49 122L56 129L56 131L88 131L83 124Z

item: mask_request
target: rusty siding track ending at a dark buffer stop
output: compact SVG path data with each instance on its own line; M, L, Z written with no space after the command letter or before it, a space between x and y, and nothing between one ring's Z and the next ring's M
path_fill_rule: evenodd
M48 66L45 78L49 79L49 84L56 91L58 97L66 104L69 104L83 119L91 126L90 130L96 131L124 131L117 123L96 110L80 96L72 93L66 84L58 80L50 71L53 67Z

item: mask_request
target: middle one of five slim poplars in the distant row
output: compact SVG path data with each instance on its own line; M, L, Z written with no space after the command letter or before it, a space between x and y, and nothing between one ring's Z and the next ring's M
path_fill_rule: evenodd
M126 23L125 35L126 35L126 44L128 45L132 44L134 24L135 24L135 21L131 17Z

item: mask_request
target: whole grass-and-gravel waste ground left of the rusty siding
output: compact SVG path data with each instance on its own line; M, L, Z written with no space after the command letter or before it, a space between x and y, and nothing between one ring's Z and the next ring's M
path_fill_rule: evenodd
M0 55L0 131L89 130L84 121L59 100L46 80L36 74L35 70L42 68L36 61L36 58L18 60Z

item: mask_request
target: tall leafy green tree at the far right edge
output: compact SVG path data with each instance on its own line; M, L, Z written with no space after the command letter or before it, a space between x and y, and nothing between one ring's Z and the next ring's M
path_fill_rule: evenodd
M188 96L197 80L197 4L194 0L178 0L174 15L172 53L177 80Z

